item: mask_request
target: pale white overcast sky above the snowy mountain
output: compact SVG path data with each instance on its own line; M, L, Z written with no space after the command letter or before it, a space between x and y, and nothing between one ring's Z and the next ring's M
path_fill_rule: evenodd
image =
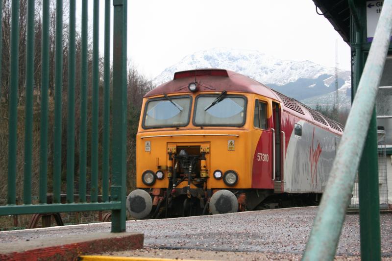
M100 2L103 38L104 1ZM89 1L89 8L92 4ZM128 58L149 78L186 55L213 47L259 50L280 59L334 67L336 40L339 68L349 70L349 46L316 13L312 0L128 1Z

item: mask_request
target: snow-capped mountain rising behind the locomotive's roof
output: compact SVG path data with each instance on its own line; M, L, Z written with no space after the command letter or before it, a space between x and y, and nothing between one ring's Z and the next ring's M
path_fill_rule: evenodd
M335 68L327 68L311 61L281 60L254 50L212 48L198 51L161 72L153 82L159 85L172 80L176 71L196 68L220 68L236 71L264 83L278 92L304 101L305 104L311 97L329 94L332 97L330 105L333 104ZM350 71L338 71L338 86L339 88L344 87L344 90L339 90L342 107L350 105L349 96L348 98L344 97L344 94L350 94L350 91L346 91L347 88L351 88L350 76ZM322 101L324 105L324 99L319 101L320 103ZM311 103L308 104L312 107L316 106L313 104L313 100Z

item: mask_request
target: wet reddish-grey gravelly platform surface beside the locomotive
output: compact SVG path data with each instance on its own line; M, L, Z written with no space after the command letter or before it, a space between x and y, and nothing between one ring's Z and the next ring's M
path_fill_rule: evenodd
M198 249L301 255L305 249L317 207L277 209L185 218L127 221L127 231L144 233L148 249ZM392 214L381 214L381 251L392 257ZM51 240L72 234L109 232L110 223L63 228L0 232L0 244ZM38 232L38 233L37 233ZM111 254L115 254L110 251ZM359 216L347 215L337 255L359 256Z

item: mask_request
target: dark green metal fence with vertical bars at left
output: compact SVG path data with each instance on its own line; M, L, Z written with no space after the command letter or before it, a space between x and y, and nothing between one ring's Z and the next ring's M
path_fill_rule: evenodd
M27 36L26 36L26 78L20 78L19 68L19 18L20 1L12 0L11 18L11 58L10 58L10 87L8 99L8 168L7 168L7 204L0 206L0 215L35 214L53 212L79 211L112 211L112 232L125 231L125 197L126 197L126 0L113 0L113 106L110 110L110 8L111 1L105 0L105 30L104 30L104 67L103 67L103 119L102 119L102 202L98 202L99 179L99 0L94 0L93 6L93 60L92 60L92 99L90 108L91 118L91 200L86 201L86 183L88 170L88 0L82 0L81 17L81 57L80 57L80 119L75 119L75 81L76 81L76 2L69 2L69 32L68 32L68 75L63 75L63 1L56 0L55 4L55 54L54 54L54 131L49 129L49 0L42 1L42 70L40 96L40 144L39 149L39 204L32 204L32 146L33 132L33 99L34 99L34 34L35 34L35 1L27 2ZM3 1L0 0L0 21L2 19ZM2 31L0 26L0 39ZM0 53L2 53L0 41ZM0 66L1 66L0 55ZM1 75L1 68L0 68ZM62 108L63 80L67 77L67 106ZM25 97L18 97L20 81L25 81ZM1 90L0 90L1 101ZM23 103L23 104L21 104ZM17 205L17 142L18 142L18 106L25 106L25 135L24 135L24 171L23 171L23 205ZM62 162L64 146L62 133L62 117L67 113L66 135L66 164ZM112 116L112 126L110 126ZM75 130L75 121L80 120L80 127ZM79 169L75 169L75 131L79 133ZM112 135L110 153L110 134ZM48 135L53 135L53 146L49 143ZM48 184L48 150L53 149L53 178ZM109 156L112 157L111 180ZM66 166L67 203L61 204L60 193L64 184L61 183L62 172ZM2 171L2 170L0 170ZM76 173L75 173L76 172ZM79 201L74 202L74 180L78 174ZM53 204L47 204L48 185L52 188ZM109 185L111 187L109 188ZM18 185L19 186L19 185ZM110 196L109 196L110 189ZM50 192L50 191L49 191Z

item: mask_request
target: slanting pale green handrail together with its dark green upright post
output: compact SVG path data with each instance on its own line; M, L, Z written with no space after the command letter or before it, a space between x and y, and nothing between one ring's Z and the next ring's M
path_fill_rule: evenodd
M349 1L350 8L356 8ZM361 4L365 4L362 1ZM362 8L366 10L366 6ZM359 14L353 11L357 41L362 43ZM366 27L366 26L365 26ZM377 128L375 99L383 73L392 32L392 0L385 0L370 47L368 59L358 84L342 140L322 196L303 260L333 260L341 235L345 213L351 198L358 166L360 183L361 257L380 260L380 217L377 173ZM362 51L357 53L362 61ZM357 62L358 62L357 60ZM360 65L355 65L361 68ZM355 67L354 66L354 67ZM356 71L360 74L361 69Z

